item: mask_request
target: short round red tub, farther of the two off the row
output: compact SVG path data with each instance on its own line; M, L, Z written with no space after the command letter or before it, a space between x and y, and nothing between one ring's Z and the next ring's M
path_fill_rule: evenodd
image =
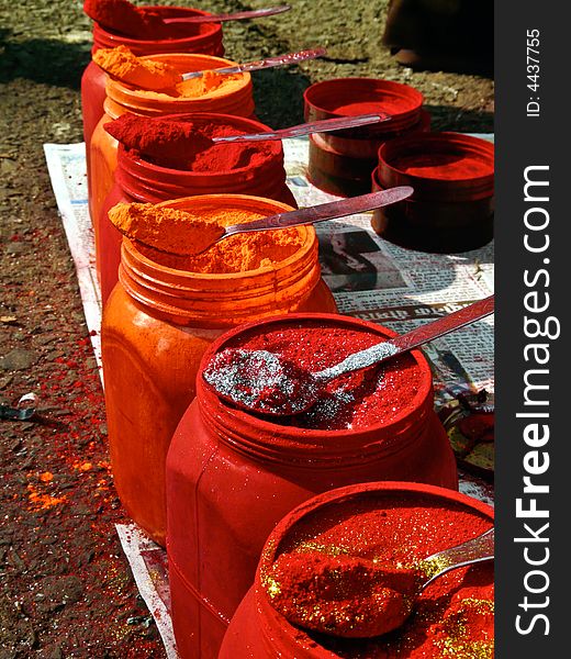
M371 191L371 172L379 147L401 135L427 131L428 112L419 91L401 82L376 78L336 78L311 85L304 94L306 121L387 112L391 120L310 135L307 177L317 188L352 197Z

